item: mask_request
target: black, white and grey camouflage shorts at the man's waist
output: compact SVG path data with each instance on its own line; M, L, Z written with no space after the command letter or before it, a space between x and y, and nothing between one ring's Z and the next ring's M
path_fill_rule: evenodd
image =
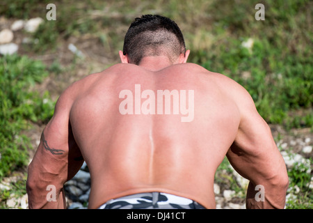
M111 199L98 209L205 209L202 205L172 194L147 192Z

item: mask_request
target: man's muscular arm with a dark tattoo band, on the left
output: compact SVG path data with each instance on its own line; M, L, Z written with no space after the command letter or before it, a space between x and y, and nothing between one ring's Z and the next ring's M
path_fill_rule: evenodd
M29 208L66 208L63 185L83 164L70 125L70 98L65 91L58 99L54 116L42 131L38 150L29 164Z

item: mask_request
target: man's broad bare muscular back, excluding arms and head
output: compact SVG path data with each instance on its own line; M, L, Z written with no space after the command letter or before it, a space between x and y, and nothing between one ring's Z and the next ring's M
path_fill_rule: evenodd
M228 82L186 63L154 72L118 64L73 84L70 123L93 180L90 208L152 191L215 208L214 174L240 121Z

